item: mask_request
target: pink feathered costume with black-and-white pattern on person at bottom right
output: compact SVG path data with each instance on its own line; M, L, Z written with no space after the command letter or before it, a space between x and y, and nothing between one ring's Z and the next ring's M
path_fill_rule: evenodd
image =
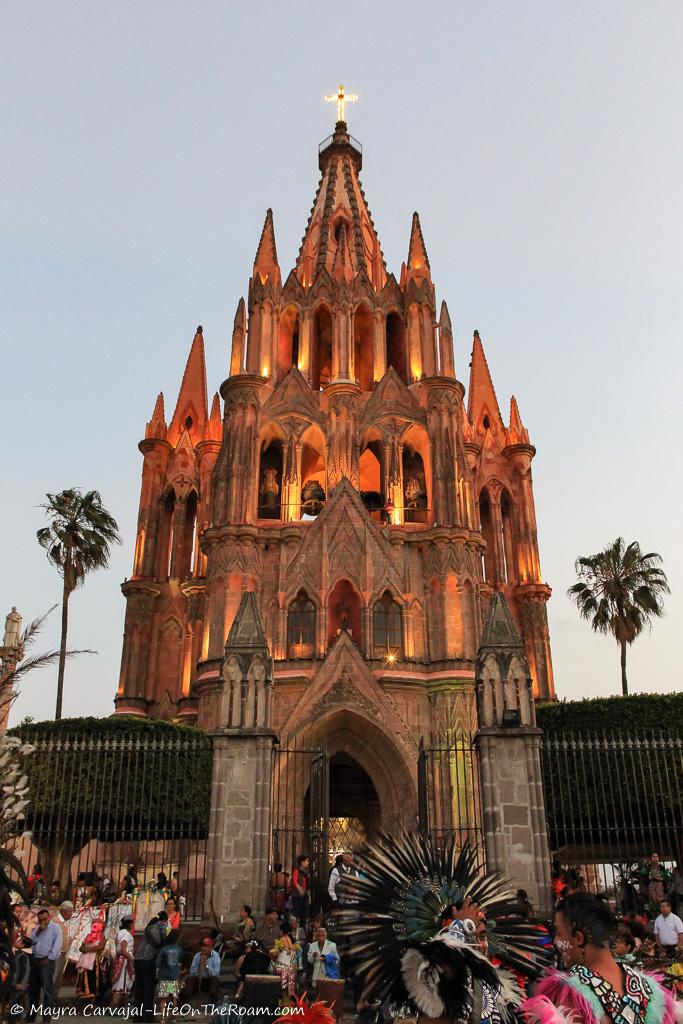
M623 965L625 992L584 964L551 971L524 1004L532 1024L675 1024L674 998L653 975Z

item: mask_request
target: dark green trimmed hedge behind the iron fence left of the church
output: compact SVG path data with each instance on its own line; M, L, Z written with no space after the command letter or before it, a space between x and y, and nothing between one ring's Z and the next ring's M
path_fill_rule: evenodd
M26 827L41 850L206 836L212 752L200 730L121 717L12 733L35 746Z

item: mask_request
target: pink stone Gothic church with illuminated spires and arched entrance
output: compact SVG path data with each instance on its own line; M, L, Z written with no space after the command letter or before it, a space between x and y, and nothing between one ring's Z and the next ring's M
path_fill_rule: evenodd
M198 328L170 421L144 438L119 714L236 725L225 643L253 592L272 659L267 724L325 743L374 820L414 819L421 737L477 728L492 595L523 645L521 694L554 696L531 480L517 402L501 414L478 332L458 379L419 217L386 267L340 121L285 276L268 210L229 376L209 406ZM408 226L408 225L407 225ZM409 232L407 231L407 234ZM517 668L515 668L515 665ZM252 709L253 725L266 709ZM241 714L244 715L244 708ZM332 776L331 776L332 777ZM331 794L331 813L343 794Z

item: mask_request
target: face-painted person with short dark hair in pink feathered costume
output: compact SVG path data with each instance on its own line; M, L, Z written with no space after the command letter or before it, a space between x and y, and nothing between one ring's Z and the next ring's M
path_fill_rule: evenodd
M674 997L657 977L617 964L609 949L616 920L590 893L555 909L555 948L566 973L549 971L524 1004L531 1024L675 1024Z

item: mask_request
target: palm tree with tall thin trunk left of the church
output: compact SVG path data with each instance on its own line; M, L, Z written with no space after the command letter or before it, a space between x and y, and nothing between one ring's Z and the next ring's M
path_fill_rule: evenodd
M61 699L67 662L69 598L92 569L106 568L110 546L121 544L117 521L101 503L99 492L82 494L70 487L59 495L47 495L41 506L50 520L37 532L38 543L47 551L48 561L63 580L61 591L61 640L57 671L57 703L55 719L61 718Z

